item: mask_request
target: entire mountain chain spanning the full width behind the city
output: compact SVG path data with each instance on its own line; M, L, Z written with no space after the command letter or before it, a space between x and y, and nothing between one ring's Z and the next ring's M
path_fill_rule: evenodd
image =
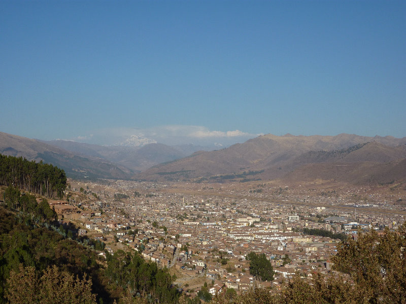
M194 145L100 146L0 132L0 153L43 160L73 178L227 182L315 179L390 183L406 178L406 137L262 135L214 151Z

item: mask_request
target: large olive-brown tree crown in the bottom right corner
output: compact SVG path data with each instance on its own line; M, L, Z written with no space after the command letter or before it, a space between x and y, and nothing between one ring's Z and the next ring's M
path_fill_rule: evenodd
M374 303L406 303L406 222L397 231L358 231L337 246L333 269L351 276L357 292Z

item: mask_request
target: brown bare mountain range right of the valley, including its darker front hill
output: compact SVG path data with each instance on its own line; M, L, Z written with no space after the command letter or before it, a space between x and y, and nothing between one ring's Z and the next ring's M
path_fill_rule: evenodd
M386 183L406 178L406 137L262 135L228 148L154 166L146 180L250 181L326 179ZM402 170L402 168L404 170Z

